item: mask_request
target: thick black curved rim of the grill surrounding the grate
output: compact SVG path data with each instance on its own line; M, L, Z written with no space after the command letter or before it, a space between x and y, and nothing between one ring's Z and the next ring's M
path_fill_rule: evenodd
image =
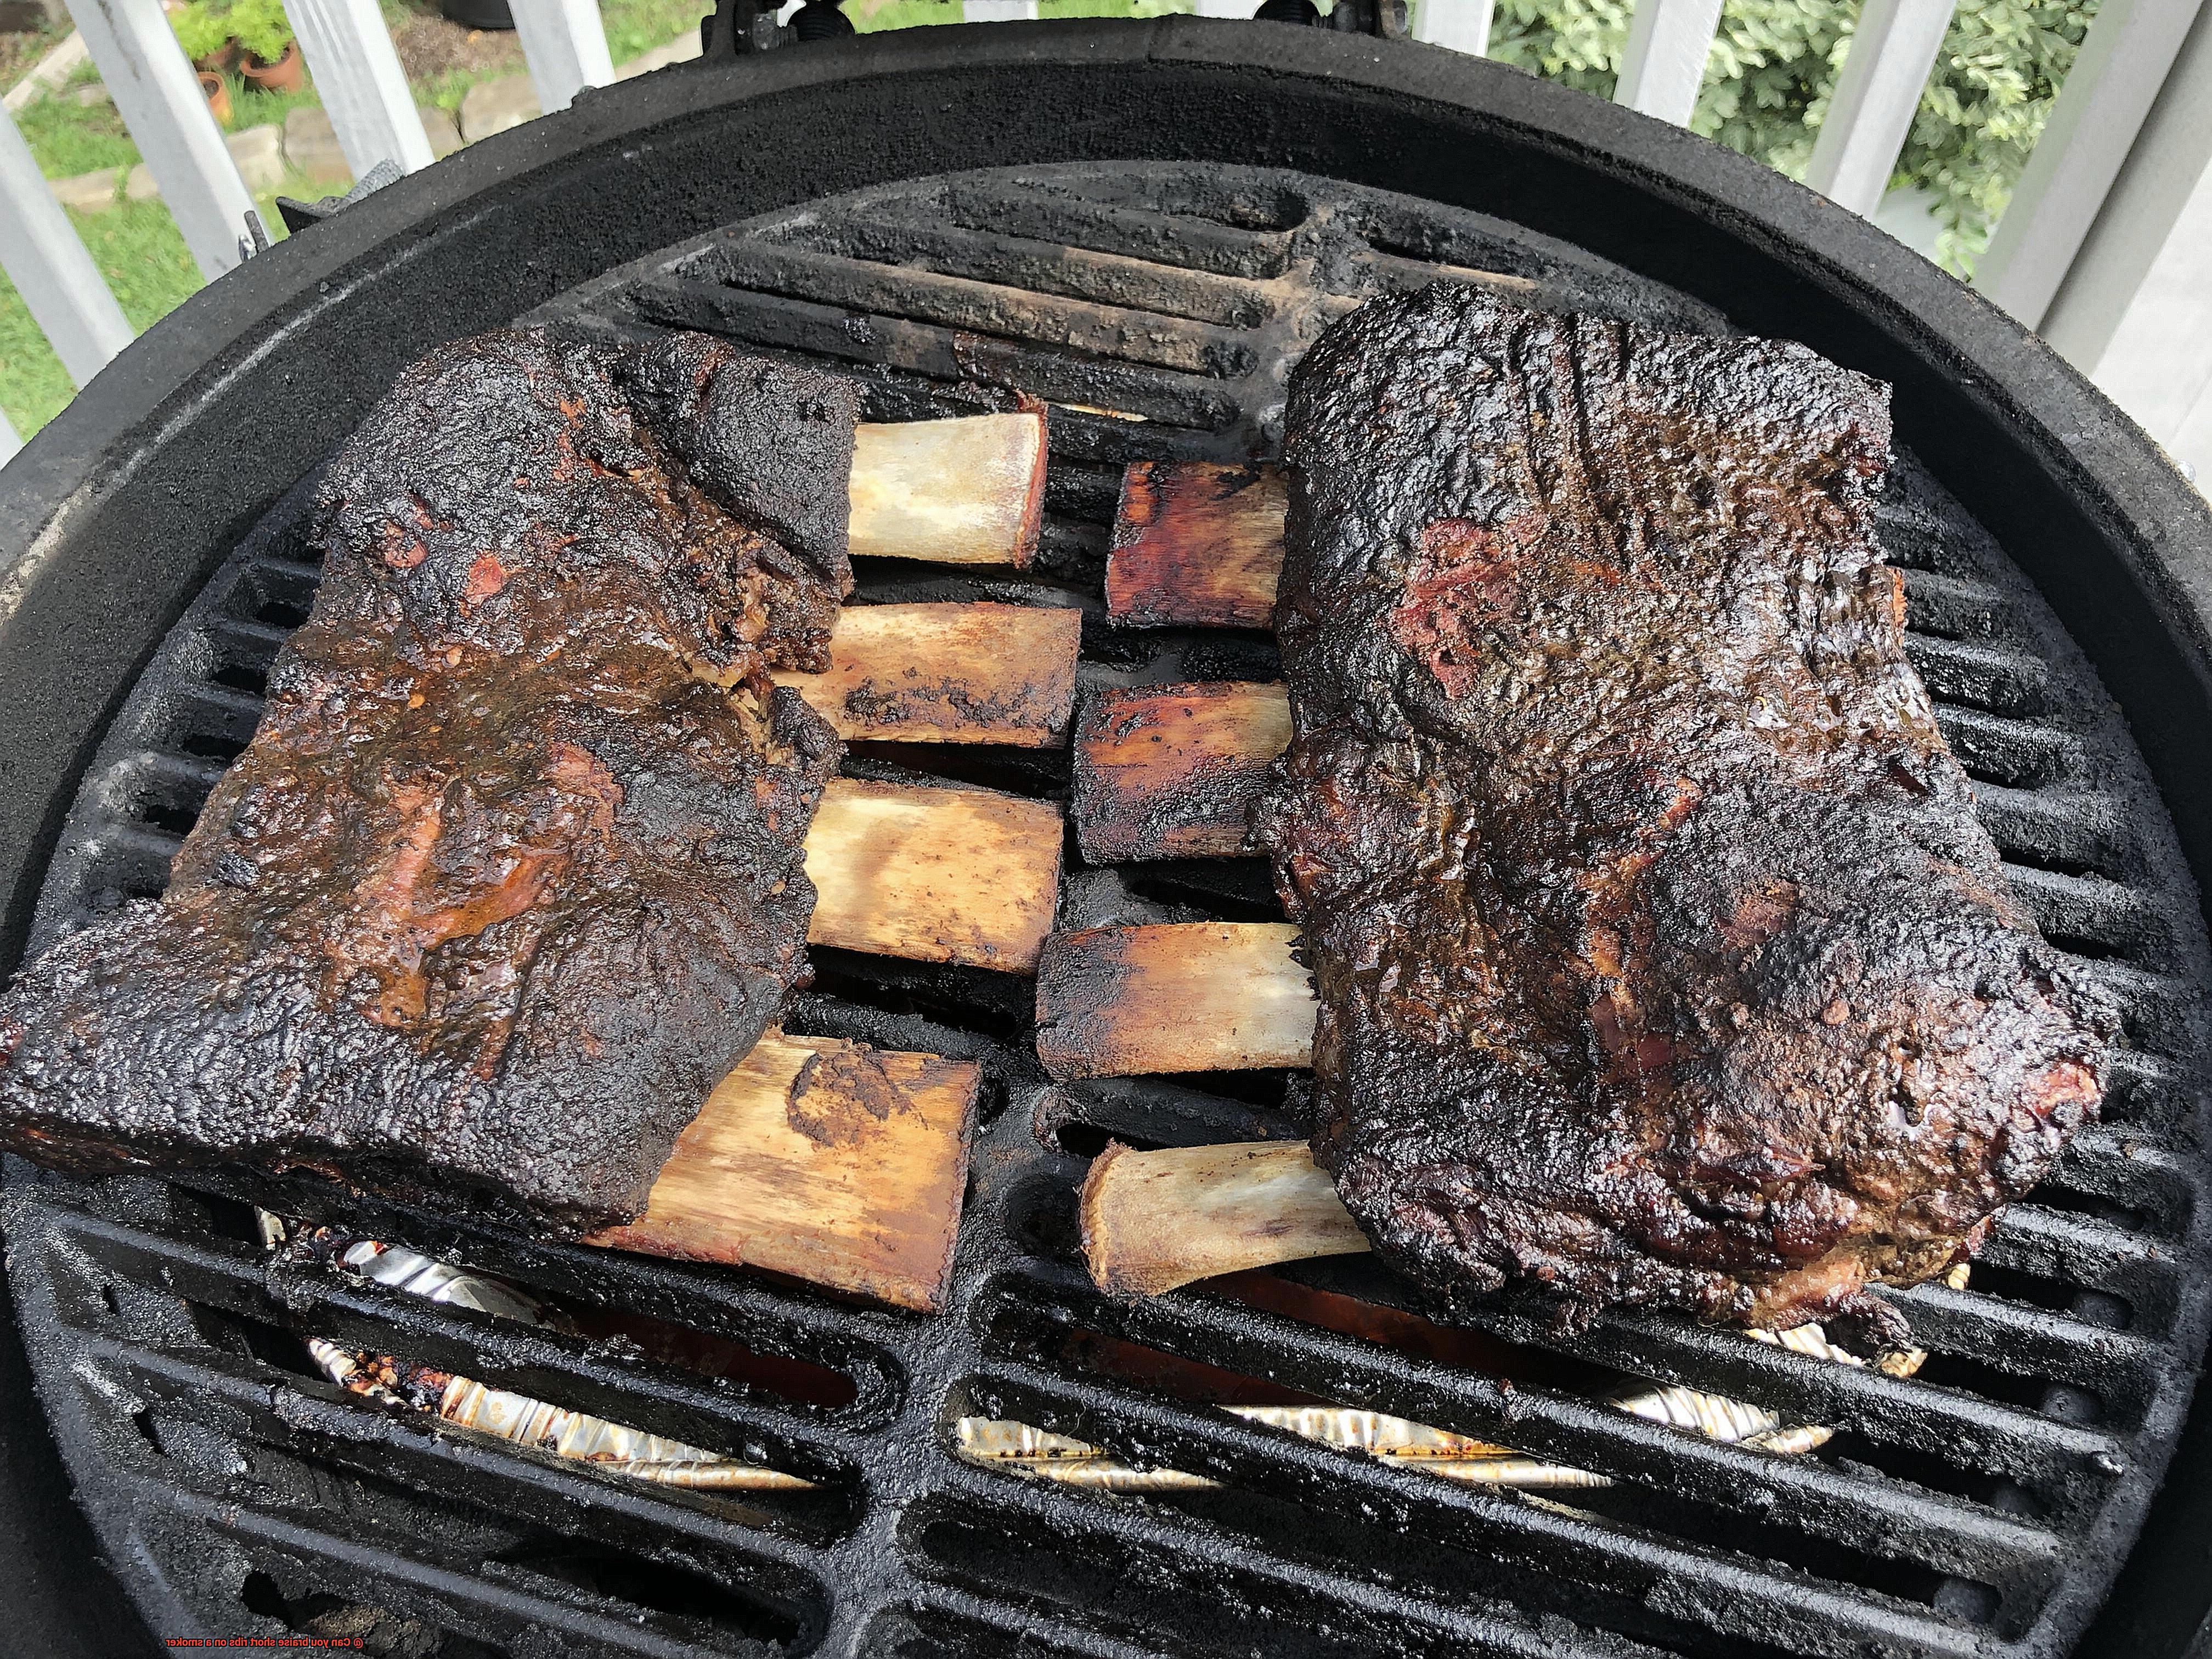
M221 549L279 493L232 478L239 458L290 482L427 343L692 234L695 219L984 161L1168 153L1511 217L1893 380L1900 438L2097 659L2192 863L2212 869L2212 515L2079 376L1871 228L1674 128L1413 46L1228 29L962 29L664 75L396 186L358 223L303 237L155 330L124 358L131 376L95 383L0 498L0 765L15 785L0 807L15 867L0 949L20 949L93 739L206 575L142 549ZM1095 124L1018 119L1051 102L1053 77L1079 82ZM1502 166L1484 170L1491 157ZM2172 1484L2199 1482L2183 1464ZM2181 1584L2148 1597L2185 1632ZM2128 1588L2115 1608L2141 1604Z

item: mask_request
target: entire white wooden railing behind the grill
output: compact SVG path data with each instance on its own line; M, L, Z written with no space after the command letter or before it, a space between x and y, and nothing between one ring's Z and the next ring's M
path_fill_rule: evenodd
M511 0L540 108L615 77L595 0ZM790 0L796 7L796 0ZM962 0L947 0L962 4ZM1192 0L1250 18L1259 0ZM1484 53L1493 0L1416 0L1413 35ZM1807 166L1860 215L1889 186L1955 0L1863 0ZM248 192L161 0L69 0L84 46L208 279L237 265ZM354 177L429 166L429 139L376 0L288 0ZM964 0L964 20L1037 15L1037 0ZM1617 102L1688 122L1721 0L1637 0ZM84 385L131 327L0 113L0 265ZM2212 478L2212 0L2101 0L2044 137L1991 237L1975 288L2062 349L2183 465ZM0 416L0 460L18 442Z

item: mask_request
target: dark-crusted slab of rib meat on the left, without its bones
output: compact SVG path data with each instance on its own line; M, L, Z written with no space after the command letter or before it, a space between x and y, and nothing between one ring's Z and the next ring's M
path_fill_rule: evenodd
M168 894L0 998L0 1146L633 1219L803 964L841 750L768 672L825 661L856 414L699 336L407 369Z

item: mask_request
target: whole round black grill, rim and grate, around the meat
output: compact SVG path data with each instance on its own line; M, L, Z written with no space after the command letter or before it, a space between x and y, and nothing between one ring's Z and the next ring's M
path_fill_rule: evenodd
M794 1026L973 1055L991 1079L936 1321L310 1186L71 1183L11 1164L9 1272L40 1385L22 1352L0 1356L0 1548L13 1533L35 1566L24 1628L44 1619L46 1650L119 1641L84 1637L66 1606L82 1562L64 1557L86 1551L66 1515L33 1513L73 1480L157 1635L352 1628L456 1659L2181 1652L2212 1595L2197 1571L2212 1453L2183 1433L2208 1283L2192 872L2212 869L2212 515L2066 365L1880 232L1493 64L1194 20L810 44L586 95L257 257L7 473L7 956L33 918L44 936L159 889L312 597L299 482L436 341L526 314L714 327L852 367L876 418L1037 392L1057 407L1033 577L885 564L858 597L1079 604L1088 688L1259 679L1263 635L1130 635L1095 615L1117 469L1263 453L1281 369L1332 305L1438 274L1801 338L1896 387L1907 460L1882 533L1907 568L1913 659L2015 883L2132 1011L2115 1121L2015 1212L1975 1290L1902 1296L1933 1352L1924 1378L1657 1316L1564 1338L1502 1305L1478 1323L1513 1347L1524 1385L1506 1389L1219 1294L1106 1305L1071 1265L1079 1155L1106 1133L1290 1135L1283 1079L1048 1093L1026 980L821 953ZM1066 790L1055 757L878 750L854 768ZM1075 867L1064 920L1270 907L1243 860ZM613 1343L522 1332L270 1267L257 1197L628 1325ZM1411 1305L1371 1265L1290 1276L1347 1298L1310 1307ZM739 1506L434 1438L319 1385L305 1334L816 1491ZM1144 1354L1150 1380L1130 1369ZM1617 1484L1566 1509L1453 1489L1239 1425L1157 1356ZM1734 1391L1838 1438L1798 1460L1699 1442L1593 1405L1593 1378L1617 1374ZM971 1411L1228 1491L1117 1500L978 1471L949 1451Z

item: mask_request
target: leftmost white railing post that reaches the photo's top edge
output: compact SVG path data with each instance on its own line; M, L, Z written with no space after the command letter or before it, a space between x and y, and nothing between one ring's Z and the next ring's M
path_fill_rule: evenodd
M223 128L208 113L199 75L161 15L161 0L69 0L93 64L137 139L184 246L210 281L239 263L254 199Z

